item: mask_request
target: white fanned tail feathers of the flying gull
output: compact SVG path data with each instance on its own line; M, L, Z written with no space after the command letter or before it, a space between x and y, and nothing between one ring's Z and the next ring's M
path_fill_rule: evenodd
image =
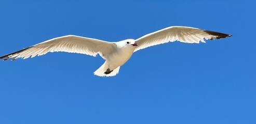
M107 66L105 66L106 62L99 68L97 69L95 72L93 72L93 74L97 75L97 76L114 76L116 74L118 74L120 66L117 67L116 69L114 69L110 74L104 74L104 72L107 69Z

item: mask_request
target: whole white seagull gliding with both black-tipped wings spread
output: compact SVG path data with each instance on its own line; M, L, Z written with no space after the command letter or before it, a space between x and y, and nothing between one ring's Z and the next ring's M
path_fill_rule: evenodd
M185 26L170 26L144 35L136 40L126 39L119 42L108 42L99 39L67 35L1 56L0 59L7 60L11 58L11 60L15 60L17 58L29 58L30 56L33 58L48 52L80 53L95 57L99 54L105 59L105 62L94 74L98 76L114 76L118 74L120 66L124 65L134 52L149 46L173 41L199 43L205 42L208 39L213 40L231 36L224 33Z

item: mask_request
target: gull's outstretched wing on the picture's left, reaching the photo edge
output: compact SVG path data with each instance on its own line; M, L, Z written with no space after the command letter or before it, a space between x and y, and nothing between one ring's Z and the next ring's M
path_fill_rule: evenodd
M106 59L106 56L109 55L115 48L116 45L111 42L68 35L53 38L45 42L41 42L36 45L30 46L29 48L1 56L0 59L25 59L29 58L30 56L35 57L36 55L44 55L48 52L80 53L91 56L96 56L97 54L100 54L102 58Z

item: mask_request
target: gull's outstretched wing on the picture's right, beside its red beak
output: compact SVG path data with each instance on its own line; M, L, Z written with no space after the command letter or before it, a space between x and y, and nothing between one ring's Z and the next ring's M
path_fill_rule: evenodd
M147 48L152 45L158 45L167 42L180 41L186 43L199 43L205 42L208 39L220 39L225 37L231 37L232 35L212 32L210 30L204 30L193 27L184 26L171 26L156 32L147 34L137 39L138 46L134 52Z

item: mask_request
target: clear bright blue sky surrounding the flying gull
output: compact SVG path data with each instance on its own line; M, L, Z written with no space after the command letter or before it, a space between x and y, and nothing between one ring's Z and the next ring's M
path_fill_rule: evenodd
M71 53L0 61L0 123L256 123L255 2L1 1L0 54L64 35L137 39L168 26L233 35L136 52L114 77Z

